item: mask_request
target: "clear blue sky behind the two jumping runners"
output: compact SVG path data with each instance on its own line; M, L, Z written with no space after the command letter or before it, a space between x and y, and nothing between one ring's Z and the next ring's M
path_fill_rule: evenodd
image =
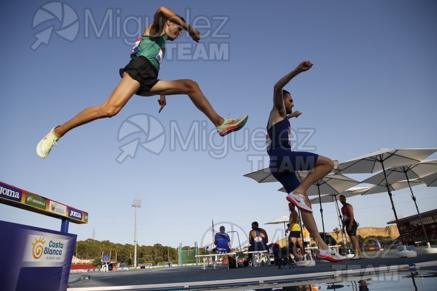
M0 4L0 180L87 211L87 225L69 227L78 240L133 243L133 198L143 202L140 245L208 243L212 219L227 230L232 224L241 243L252 221L272 239L282 237L282 225L264 225L288 215L281 185L243 175L267 166L251 161L268 160L263 145L273 84L303 60L314 66L286 86L303 113L292 121L301 148L344 162L378 148L437 146L435 1L46 3ZM206 37L197 46L185 34L169 42L173 53L160 78L197 81L222 116L249 114L245 130L222 139L186 96L168 97L160 114L157 97L134 96L115 117L70 131L47 159L38 158L35 146L53 126L106 100L120 79L118 68L129 62L131 43L161 5L186 16ZM48 45L40 44L47 36ZM147 129L147 116L149 136L128 135ZM193 139L178 143L175 132L186 138L196 125ZM308 138L304 130L313 134ZM162 131L165 143L135 142ZM134 158L123 156L125 144L136 149ZM152 148L162 151L156 155ZM124 160L117 161L120 154ZM436 189L413 190L420 211L436 208ZM407 190L393 199L399 215L416 213ZM360 226L387 226L393 217L387 193L348 202ZM323 214L332 231L338 225L334 204L325 204ZM5 205L0 219L60 229L60 220Z

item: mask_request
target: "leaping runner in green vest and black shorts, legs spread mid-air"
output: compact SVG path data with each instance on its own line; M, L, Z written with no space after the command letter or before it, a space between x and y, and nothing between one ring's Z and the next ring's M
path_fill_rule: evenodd
M188 79L158 80L166 41L175 40L183 30L188 32L194 41L199 42L200 33L198 30L188 25L183 18L177 16L170 9L158 8L153 21L144 30L138 51L135 52L129 64L120 70L122 79L109 98L102 105L86 108L63 125L51 129L36 146L37 155L43 159L47 157L53 145L69 130L99 118L116 115L134 94L141 96L160 95L158 102L161 108L159 112L166 105L166 95L186 94L194 105L211 120L221 136L241 129L248 116L244 115L235 119L221 117L216 113L195 81Z

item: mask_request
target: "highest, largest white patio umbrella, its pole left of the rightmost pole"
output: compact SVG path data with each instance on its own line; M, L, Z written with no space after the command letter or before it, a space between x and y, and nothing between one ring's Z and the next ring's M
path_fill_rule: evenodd
M356 174L374 173L382 170L384 177L387 178L386 168L421 162L436 151L437 148L379 149L364 156L340 163L338 165L338 172L342 174ZM387 181L386 187L393 213L396 218L396 226L398 226L399 233L401 233L401 230L399 229L398 215L396 214L392 194ZM402 236L401 240L402 244L405 244Z

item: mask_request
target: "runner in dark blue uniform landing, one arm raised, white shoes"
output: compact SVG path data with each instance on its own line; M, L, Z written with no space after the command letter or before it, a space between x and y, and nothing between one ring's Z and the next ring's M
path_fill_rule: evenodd
M313 64L304 61L294 70L279 80L273 88L273 109L269 115L267 125L267 152L270 156L270 172L286 189L287 200L302 210L301 216L304 225L319 247L319 258L331 261L341 261L346 257L338 255L328 248L320 238L319 230L311 210L311 202L306 195L306 190L323 176L331 172L334 163L323 156L310 152L296 152L291 150L291 128L289 118L298 117L302 113L292 112L293 99L288 91L284 90L286 84L302 72L309 70ZM288 115L287 115L288 114ZM309 174L299 182L295 171L309 171Z

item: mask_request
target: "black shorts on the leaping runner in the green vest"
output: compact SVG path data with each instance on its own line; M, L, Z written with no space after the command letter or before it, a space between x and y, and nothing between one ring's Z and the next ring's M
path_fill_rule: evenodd
M133 58L129 64L120 69L120 77L123 78L123 73L126 72L132 79L140 83L136 95L141 96L141 92L150 91L158 80L158 71L151 62L143 56Z

